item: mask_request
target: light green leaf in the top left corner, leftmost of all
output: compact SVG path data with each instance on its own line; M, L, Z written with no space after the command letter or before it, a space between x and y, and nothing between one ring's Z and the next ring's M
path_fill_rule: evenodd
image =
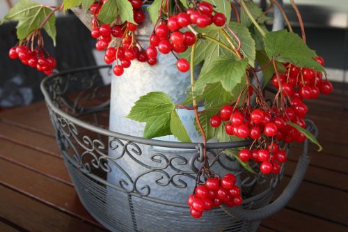
M44 22L47 15L52 12L51 8L29 0L21 0L3 17L1 24L5 20L17 21L17 37L22 40L33 30L38 29ZM52 38L56 45L56 17L51 15L43 27L47 34Z

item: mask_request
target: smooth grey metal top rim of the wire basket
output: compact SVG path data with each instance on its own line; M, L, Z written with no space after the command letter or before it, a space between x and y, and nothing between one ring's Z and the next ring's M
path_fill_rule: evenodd
M70 122L79 125L80 127L84 127L88 130L91 130L96 133L103 134L108 137L115 137L117 139L122 139L125 141L134 141L139 144L146 144L150 146L161 146L161 147L167 147L167 148L184 148L184 149L199 149L202 146L202 143L182 143L178 141L161 141L157 139L145 139L143 137L136 137L129 134L122 134L119 132L113 132L111 130L106 130L102 127L98 127L96 125L92 125L90 123L86 123L84 121L79 120L78 118L75 118L74 116L71 116L70 114L66 113L65 111L59 109L54 105L52 102L52 99L47 91L46 84L50 79L54 79L58 76L67 75L70 73L76 73L76 72L84 72L84 71L90 71L90 70L99 70L101 68L111 68L111 65L102 65L102 66L88 66L83 68L75 68L71 70L65 70L62 72L57 72L53 75L49 75L48 77L45 77L45 79L42 80L40 84L40 88L42 91L42 94L45 97L45 102L48 105L54 113L63 116L64 118L67 118ZM251 145L253 141L252 140L244 140L244 141L233 141L233 142L214 142L214 143L207 143L207 149L221 149L221 148L238 148L238 147L244 147Z

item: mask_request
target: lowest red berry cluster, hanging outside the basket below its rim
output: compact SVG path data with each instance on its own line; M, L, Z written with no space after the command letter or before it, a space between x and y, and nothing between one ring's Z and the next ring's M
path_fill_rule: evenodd
M204 184L198 185L187 199L192 217L200 218L203 210L218 207L221 203L229 207L242 204L241 191L235 182L235 175L228 173L223 178L208 178Z

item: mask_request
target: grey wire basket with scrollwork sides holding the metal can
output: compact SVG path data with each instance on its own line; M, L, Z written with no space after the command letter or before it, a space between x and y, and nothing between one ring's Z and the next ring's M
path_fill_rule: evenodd
M284 168L280 174L267 176L251 174L245 169L231 170L226 162L235 160L224 155L223 150L248 146L251 141L208 143L209 165L233 171L238 176L244 202L238 208L214 208L200 219L193 219L186 203L162 198L156 191L159 188L164 192L189 194L192 191L188 186L196 179L203 158L202 144L143 139L108 130L110 88L102 85L99 75L100 68L108 67L61 72L47 77L41 84L56 140L79 198L107 229L256 231L261 219L278 212L296 192L308 166L306 152L290 185L269 204ZM190 149L190 153L177 148ZM118 150L118 156L108 155L109 149ZM125 158L139 167L136 176L120 165L119 161ZM115 169L122 175L118 182L108 178Z

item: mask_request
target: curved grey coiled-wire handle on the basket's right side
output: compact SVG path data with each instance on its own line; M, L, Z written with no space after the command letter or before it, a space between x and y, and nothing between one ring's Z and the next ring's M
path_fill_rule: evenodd
M308 127L310 130L317 136L317 127L313 122L308 121ZM258 208L255 210L248 210L242 207L232 207L228 208L226 205L221 205L221 208L231 217L235 217L237 219L241 219L243 221L260 221L271 215L274 215L276 212L282 210L287 203L292 199L296 191L299 189L299 186L302 183L304 176L306 175L306 171L308 169L308 165L310 163L310 157L307 155L308 153L308 139L304 142L303 145L303 153L299 157L299 161L297 162L296 169L290 183L287 184L287 187L283 190L283 193L278 196L278 198L263 208Z

